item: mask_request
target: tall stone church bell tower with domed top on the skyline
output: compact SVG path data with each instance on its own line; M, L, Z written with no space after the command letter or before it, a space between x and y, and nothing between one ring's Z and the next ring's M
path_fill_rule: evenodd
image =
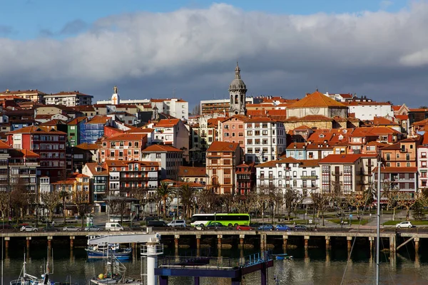
M245 94L247 93L247 86L244 81L240 78L240 68L238 61L236 62L235 68L235 79L230 83L229 95L230 95L230 107L229 115L245 115L247 109L245 109Z

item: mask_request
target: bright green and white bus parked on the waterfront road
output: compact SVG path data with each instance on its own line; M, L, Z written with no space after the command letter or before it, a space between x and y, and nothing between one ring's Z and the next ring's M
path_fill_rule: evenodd
M226 227L236 227L238 224L249 226L250 220L250 214L194 214L190 226L205 227L208 222L220 222Z

